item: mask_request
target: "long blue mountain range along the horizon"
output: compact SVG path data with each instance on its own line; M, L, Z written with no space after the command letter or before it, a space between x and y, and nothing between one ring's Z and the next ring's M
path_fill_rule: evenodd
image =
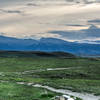
M7 51L62 51L76 55L100 55L100 44L68 42L57 38L19 39L0 36L0 50Z

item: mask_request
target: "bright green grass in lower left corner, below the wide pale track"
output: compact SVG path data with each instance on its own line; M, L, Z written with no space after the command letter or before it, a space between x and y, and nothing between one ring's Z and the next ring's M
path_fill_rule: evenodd
M12 82L0 83L0 100L51 100L55 95L53 92L32 86Z

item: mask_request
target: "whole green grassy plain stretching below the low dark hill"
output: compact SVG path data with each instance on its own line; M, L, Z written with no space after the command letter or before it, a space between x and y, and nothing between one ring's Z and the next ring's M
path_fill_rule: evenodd
M46 70L47 68L68 69L50 71ZM40 94L44 90L25 85L20 86L16 82L39 83L55 88L100 95L100 59L0 57L0 80L8 81L5 84L0 83L0 92L2 92L0 100L50 99L49 97L41 99ZM50 94L55 95L51 92Z

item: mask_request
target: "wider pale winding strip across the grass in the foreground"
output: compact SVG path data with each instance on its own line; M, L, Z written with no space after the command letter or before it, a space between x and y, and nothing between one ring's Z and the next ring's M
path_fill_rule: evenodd
M28 85L28 86L31 85L33 87L47 89L47 90L52 91L52 92L79 97L83 100L100 100L100 96L94 96L93 94L88 94L88 93L78 93L78 92L72 92L72 91L66 90L66 89L56 89L56 88L44 86L44 85L41 85L41 84L35 84L34 85L33 83L27 83L26 84L24 82L17 82L17 84L22 84L22 85L25 84L25 85Z

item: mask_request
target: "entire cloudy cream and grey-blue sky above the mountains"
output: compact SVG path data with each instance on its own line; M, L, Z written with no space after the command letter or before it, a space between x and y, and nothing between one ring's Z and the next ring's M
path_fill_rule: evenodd
M95 41L99 28L100 0L0 0L1 35Z

